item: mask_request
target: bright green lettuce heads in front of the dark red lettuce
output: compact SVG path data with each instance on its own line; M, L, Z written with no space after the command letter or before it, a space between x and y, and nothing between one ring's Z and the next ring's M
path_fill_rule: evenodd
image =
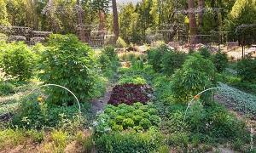
M154 105L121 104L108 105L104 112L97 117L96 134L107 131L123 131L134 129L136 131L148 130L148 128L160 125L160 116L157 116Z

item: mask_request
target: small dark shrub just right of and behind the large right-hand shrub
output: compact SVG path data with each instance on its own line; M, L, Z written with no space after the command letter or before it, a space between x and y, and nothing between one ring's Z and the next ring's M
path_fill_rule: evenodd
M229 59L227 57L227 54L222 53L220 50L213 57L213 63L214 63L214 65L216 67L216 70L218 72L224 71L224 69L228 65L228 61L229 61Z

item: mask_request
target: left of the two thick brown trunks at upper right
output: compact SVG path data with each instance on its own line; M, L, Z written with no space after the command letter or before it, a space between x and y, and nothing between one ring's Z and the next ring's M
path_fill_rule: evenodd
M195 1L188 0L189 4L189 31L190 31L190 43L195 44L197 42L197 27L195 20Z

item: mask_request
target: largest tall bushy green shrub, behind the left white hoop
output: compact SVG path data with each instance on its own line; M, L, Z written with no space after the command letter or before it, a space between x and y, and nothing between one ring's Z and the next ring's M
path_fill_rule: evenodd
M44 83L55 83L72 90L79 101L85 101L95 84L96 60L87 45L73 35L51 35L49 49L42 54L39 77ZM75 99L64 89L49 88L50 103L73 105Z

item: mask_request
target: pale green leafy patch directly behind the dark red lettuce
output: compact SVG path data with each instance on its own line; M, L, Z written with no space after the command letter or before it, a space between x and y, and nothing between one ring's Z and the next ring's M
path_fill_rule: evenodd
M124 76L119 79L119 84L126 84L126 83L147 84L147 81L143 77L139 77L139 76L132 76L132 77Z

